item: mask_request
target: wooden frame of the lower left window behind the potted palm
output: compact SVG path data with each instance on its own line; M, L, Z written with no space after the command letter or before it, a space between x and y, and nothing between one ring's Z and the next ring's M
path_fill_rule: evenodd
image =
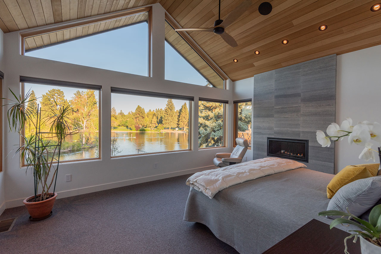
M27 82L22 81L27 80ZM46 82L45 84L42 84L43 82ZM43 79L43 78L30 78L30 77L20 77L20 94L22 98L25 96L25 83L32 83L36 85L59 85L62 87L77 87L80 89L94 89L94 87L99 87L99 90L96 91L99 92L99 100L98 100L98 157L97 158L84 158L84 159L78 159L78 160L64 160L59 161L60 164L66 164L66 163L77 163L77 162L83 162L83 161L92 161L92 160L102 160L102 86L98 85L88 85L83 83L74 83L74 82L68 82L68 81L59 81L59 80L49 80L49 79ZM40 84L39 84L40 83ZM22 128L22 134L25 135L25 126ZM22 136L20 135L20 145L24 145L24 139L22 139ZM53 162L53 164L57 164L56 162ZM25 168L28 165L25 164L25 159L20 156L20 167Z

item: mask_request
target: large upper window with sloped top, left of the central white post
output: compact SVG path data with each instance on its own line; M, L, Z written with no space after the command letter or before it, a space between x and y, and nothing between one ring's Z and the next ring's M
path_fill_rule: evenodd
M24 55L149 76L148 12L35 35Z

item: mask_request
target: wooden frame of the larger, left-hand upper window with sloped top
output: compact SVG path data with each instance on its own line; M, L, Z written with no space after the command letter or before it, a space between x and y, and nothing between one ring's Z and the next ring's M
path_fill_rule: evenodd
M50 34L53 32L59 32L67 29L87 26L91 24L96 24L99 22L112 21L114 19L124 18L131 15L136 15L140 13L148 13L148 75L147 77L152 77L152 6L136 8L133 10L120 11L118 13L104 14L101 17L88 17L83 19L78 19L75 21L61 22L59 24L52 24L47 27L33 29L31 31L21 32L20 35L20 55L25 55L25 39L29 37L35 37L38 35ZM133 74L133 73L129 73ZM133 74L136 75L136 74ZM145 76L144 76L145 77Z

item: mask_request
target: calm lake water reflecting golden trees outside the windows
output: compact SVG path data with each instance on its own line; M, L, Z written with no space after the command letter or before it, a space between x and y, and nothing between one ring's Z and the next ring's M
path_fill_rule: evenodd
M117 138L120 155L134 155L140 153L156 153L189 149L189 135L182 132L119 132L112 131L111 137ZM107 153L109 151L103 151ZM60 160L78 160L95 158L98 148L85 148L77 151L62 152Z

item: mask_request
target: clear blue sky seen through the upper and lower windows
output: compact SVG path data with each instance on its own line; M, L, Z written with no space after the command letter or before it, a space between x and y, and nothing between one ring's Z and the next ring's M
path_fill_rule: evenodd
M148 25L147 23L140 23L30 51L25 55L147 76ZM206 84L205 78L168 43L165 43L165 79L195 85ZM45 85L26 85L25 90L28 91L30 87L35 91L37 97L53 88ZM78 90L72 88L59 89L64 91L68 100ZM123 110L127 113L130 110L134 111L137 105L141 105L146 111L156 108L164 109L166 99L113 94L111 103L117 112ZM174 104L176 109L180 109L184 101L174 100Z

